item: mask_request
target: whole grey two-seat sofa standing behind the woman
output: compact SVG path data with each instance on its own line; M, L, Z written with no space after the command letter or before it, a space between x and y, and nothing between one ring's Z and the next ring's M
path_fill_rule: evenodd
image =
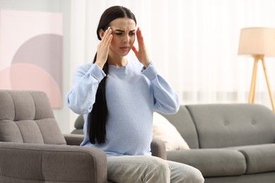
M161 115L189 148L166 150L162 154L167 160L199 169L205 182L275 182L275 113L269 108L249 103L193 104L182 105L176 114ZM75 127L73 133L81 134L81 117Z

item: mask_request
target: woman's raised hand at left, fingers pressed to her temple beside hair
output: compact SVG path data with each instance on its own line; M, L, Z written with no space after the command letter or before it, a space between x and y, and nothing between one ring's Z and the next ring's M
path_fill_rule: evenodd
M103 68L108 58L109 47L111 39L113 38L111 32L111 27L109 27L105 32L103 32L103 30L100 32L100 34L102 34L102 40L97 45L97 61L95 61L95 64L99 65L100 68Z

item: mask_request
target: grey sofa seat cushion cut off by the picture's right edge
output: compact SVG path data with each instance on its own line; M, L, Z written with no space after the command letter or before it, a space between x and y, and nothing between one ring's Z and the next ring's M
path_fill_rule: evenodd
M247 174L275 171L275 144L238 146L228 149L243 153L247 163Z

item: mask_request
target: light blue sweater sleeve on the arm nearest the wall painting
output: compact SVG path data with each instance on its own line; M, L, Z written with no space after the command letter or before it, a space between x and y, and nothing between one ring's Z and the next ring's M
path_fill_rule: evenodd
M66 95L68 107L78 114L90 113L99 82L105 76L98 65L92 63L80 65L75 71L73 87Z

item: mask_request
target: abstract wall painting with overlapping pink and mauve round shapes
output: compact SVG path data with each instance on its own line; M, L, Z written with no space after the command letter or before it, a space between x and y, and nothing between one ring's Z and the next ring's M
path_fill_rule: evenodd
M62 108L63 16L0 10L0 89L42 90Z

